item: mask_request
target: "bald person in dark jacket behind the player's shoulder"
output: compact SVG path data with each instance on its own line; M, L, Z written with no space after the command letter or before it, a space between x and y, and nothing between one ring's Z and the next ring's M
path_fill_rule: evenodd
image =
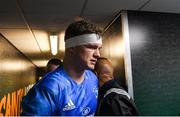
M94 70L100 88L96 115L139 115L132 98L114 79L112 63L107 58L99 58Z

